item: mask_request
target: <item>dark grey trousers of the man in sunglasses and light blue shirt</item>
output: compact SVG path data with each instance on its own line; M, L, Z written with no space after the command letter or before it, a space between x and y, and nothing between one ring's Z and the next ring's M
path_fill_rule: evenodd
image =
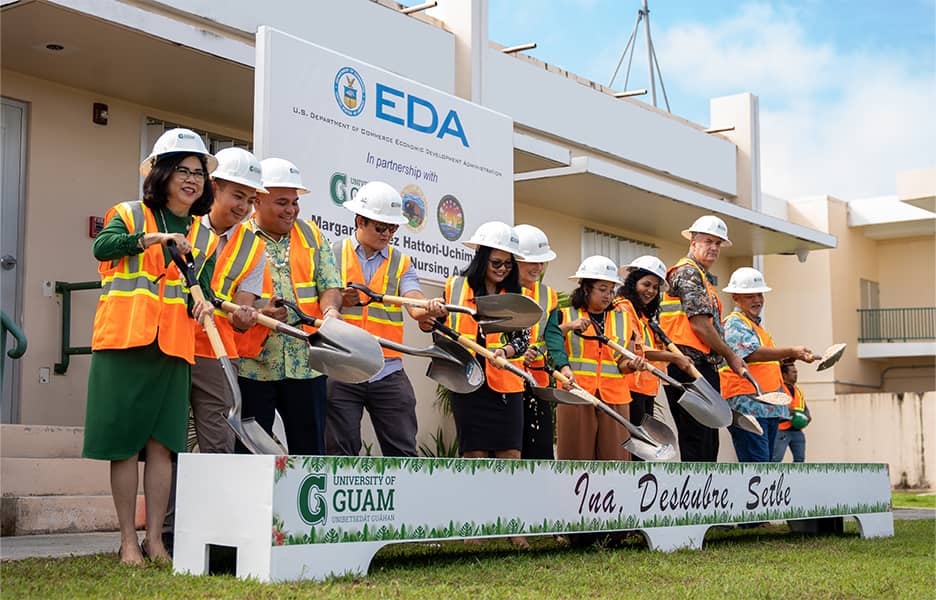
M329 454L360 454L365 408L384 456L416 456L416 394L402 369L367 383L328 381L325 446Z

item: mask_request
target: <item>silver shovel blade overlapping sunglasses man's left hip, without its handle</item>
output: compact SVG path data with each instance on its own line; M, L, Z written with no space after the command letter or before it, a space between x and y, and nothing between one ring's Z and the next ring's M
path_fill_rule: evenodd
M377 339L350 323L325 319L308 339L309 366L338 381L363 383L383 368Z

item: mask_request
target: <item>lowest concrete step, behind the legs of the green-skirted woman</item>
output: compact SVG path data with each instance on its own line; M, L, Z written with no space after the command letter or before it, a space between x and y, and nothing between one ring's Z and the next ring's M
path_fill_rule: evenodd
M135 521L137 529L146 523L143 496L137 497ZM3 536L117 529L117 513L110 494L0 498L0 534Z

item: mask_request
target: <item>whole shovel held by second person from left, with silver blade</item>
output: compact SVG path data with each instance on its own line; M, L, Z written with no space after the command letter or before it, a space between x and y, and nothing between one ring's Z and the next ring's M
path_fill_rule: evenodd
M226 312L240 307L231 302L212 300L212 304ZM367 381L383 368L383 353L374 338L339 319L309 319L307 325L318 327L307 333L273 317L258 314L257 323L285 335L308 342L309 367L345 383Z

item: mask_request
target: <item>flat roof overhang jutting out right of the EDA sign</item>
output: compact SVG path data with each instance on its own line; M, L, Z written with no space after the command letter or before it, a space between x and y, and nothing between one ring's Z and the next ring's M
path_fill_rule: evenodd
M836 237L713 198L685 185L607 160L577 156L568 166L517 173L514 199L581 219L681 239L696 218L716 214L733 245L726 256L798 254L834 248Z

